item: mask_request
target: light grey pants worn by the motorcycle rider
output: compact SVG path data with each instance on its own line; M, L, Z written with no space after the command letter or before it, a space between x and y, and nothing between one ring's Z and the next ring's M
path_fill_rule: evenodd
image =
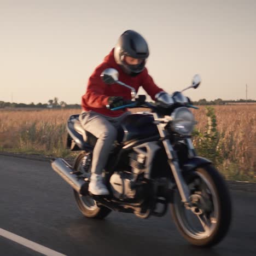
M93 152L91 173L102 174L113 143L117 139L117 128L129 114L131 112L125 112L115 118L91 110L80 114L79 120L83 128L98 138Z

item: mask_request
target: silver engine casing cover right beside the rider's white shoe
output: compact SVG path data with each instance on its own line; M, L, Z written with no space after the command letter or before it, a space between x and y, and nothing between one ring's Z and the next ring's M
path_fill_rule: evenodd
M133 174L129 172L115 172L110 177L110 187L117 199L133 199L136 195Z

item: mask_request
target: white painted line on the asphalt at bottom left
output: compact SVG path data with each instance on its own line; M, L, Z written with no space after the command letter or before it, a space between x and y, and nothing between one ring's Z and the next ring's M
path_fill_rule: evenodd
M8 239L10 239L10 240L12 240L16 243L19 243L22 246L26 246L26 247L28 247L28 248L36 251L36 252L42 253L42 254L47 255L47 256L66 256L65 254L56 252L52 249L49 249L49 248L47 248L45 246L42 246L42 245L39 245L38 243L27 240L24 237L15 235L15 234L13 234L13 233L11 233L7 230L1 229L1 228L0 228L0 236L8 238Z

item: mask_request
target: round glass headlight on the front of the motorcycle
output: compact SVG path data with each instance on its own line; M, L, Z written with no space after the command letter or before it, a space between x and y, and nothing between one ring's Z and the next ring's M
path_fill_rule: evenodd
M194 115L186 107L176 108L172 114L171 129L181 135L190 135L196 124Z

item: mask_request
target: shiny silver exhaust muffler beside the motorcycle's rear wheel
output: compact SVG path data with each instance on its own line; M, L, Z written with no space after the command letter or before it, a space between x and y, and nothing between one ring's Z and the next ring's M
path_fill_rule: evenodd
M62 158L57 158L51 163L51 167L79 194L85 195L88 191L88 183L74 174L72 167Z

